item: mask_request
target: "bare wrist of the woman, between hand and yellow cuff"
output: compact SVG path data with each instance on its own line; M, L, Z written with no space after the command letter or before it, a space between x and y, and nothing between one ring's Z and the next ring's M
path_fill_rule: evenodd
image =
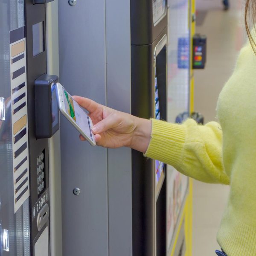
M151 120L134 116L134 132L132 134L130 147L145 153L150 143L151 130Z

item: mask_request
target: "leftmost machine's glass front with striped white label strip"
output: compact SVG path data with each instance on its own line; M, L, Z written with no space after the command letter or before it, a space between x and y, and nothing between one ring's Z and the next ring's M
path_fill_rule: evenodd
M0 17L0 255L30 256L23 2L1 1Z

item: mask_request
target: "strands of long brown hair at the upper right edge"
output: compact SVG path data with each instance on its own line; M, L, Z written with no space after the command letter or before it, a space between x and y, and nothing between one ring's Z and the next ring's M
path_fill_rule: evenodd
M253 48L253 52L256 55L256 42L253 39L253 35L250 31L250 20L253 22L253 28L255 28L256 23L256 1L255 0L246 0L245 3L245 12L244 12L244 19L245 19L245 29L250 41L250 44ZM255 33L253 31L253 33Z

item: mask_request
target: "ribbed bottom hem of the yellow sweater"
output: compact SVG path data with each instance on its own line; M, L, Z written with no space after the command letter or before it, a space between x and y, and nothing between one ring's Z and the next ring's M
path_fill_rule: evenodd
M249 226L236 218L235 212L225 213L217 240L228 256L256 255L256 227Z

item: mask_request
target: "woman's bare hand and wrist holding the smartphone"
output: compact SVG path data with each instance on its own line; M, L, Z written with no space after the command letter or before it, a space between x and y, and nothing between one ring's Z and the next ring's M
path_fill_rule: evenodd
M97 145L107 148L125 146L145 153L150 141L150 120L116 111L91 99L80 96L73 96L73 98L81 107L89 111L93 121L91 129ZM81 135L80 139L85 140Z

